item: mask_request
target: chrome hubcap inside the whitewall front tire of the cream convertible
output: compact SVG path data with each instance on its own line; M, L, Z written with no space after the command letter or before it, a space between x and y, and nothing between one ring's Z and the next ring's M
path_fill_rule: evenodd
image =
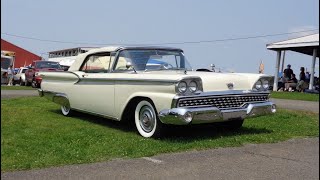
M151 132L155 125L155 116L152 108L143 106L139 113L140 126L145 132Z

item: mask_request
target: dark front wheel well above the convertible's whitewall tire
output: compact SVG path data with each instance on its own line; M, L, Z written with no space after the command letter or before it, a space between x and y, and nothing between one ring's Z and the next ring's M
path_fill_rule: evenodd
M148 97L143 97L143 96L134 97L129 101L126 108L124 109L122 116L121 116L121 121L134 122L134 111L135 111L136 105L142 99L147 99L147 100L151 101L151 104L154 106L153 101ZM131 119L131 118L133 118L133 119Z

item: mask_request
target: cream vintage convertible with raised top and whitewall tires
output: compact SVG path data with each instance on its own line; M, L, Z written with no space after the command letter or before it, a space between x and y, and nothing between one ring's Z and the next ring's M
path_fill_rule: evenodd
M104 47L77 56L66 72L39 72L39 95L74 111L134 121L143 137L164 124L221 122L237 129L244 118L276 112L272 77L192 71L183 51L168 47Z

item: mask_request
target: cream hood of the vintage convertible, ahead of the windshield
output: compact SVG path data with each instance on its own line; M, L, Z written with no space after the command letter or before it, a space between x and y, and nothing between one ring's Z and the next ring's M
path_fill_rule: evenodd
M250 73L215 73L215 72L198 72L198 71L150 71L141 72L144 76L166 80L181 80L184 78L199 77L202 80L203 91L224 91L229 90L228 84L233 85L233 90L251 90L254 83L261 77L270 76L265 74Z

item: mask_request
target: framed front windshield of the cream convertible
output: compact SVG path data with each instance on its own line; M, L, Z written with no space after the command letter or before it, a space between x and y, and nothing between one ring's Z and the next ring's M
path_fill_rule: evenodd
M172 50L123 50L115 70L129 70L131 62L136 71L192 70L183 53Z

